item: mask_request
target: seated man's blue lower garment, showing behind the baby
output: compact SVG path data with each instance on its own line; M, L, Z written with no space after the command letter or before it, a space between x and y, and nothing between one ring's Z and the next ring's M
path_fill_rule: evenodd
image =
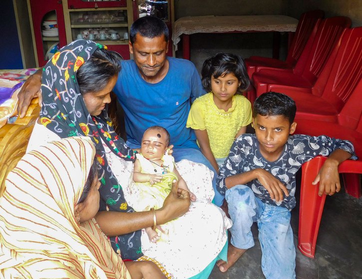
M126 144L131 148L140 148L140 145L132 144L129 141L126 142ZM217 206L221 206L224 202L224 196L221 195L216 190L216 177L217 173L213 166L211 165L210 161L206 159L203 153L199 149L195 148L173 148L172 156L175 158L175 162L181 161L182 159L187 159L190 161L193 161L195 163L201 163L206 165L213 173L214 177L212 179L212 187L215 191L215 197L214 197L214 204ZM195 174L197 175L197 174Z

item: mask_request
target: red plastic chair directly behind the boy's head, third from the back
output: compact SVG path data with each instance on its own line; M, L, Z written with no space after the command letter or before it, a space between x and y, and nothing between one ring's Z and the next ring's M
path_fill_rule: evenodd
M341 41L313 87L270 85L268 89L285 93L294 99L298 109L296 116L298 120L310 119L337 123L341 118L339 114L356 91L361 78L362 27L356 27L344 31ZM352 110L355 110L353 106L359 106L360 100L349 105Z

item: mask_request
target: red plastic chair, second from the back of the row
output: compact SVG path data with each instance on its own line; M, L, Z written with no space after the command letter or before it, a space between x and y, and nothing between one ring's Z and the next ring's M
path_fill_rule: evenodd
M313 40L308 40L306 45L306 48L311 47L311 51L302 53L293 71L264 69L253 74L252 83L256 89L256 96L274 90L272 88L278 88L274 91L283 93L293 88L311 89L321 75L336 44L340 41L344 29L349 26L351 26L351 19L345 16L323 19L318 26L316 36ZM340 44L337 44L336 48L339 46ZM251 92L249 96L253 98L253 93Z

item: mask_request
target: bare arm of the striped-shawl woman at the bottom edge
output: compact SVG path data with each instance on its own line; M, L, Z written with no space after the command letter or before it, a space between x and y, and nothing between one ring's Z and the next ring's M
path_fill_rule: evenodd
M132 279L165 279L161 270L150 261L124 262Z

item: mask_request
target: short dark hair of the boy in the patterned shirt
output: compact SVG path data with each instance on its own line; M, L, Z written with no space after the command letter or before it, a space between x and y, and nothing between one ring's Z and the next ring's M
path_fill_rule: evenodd
M283 116L292 124L296 116L297 106L294 100L282 93L266 92L260 95L253 105L253 117Z

